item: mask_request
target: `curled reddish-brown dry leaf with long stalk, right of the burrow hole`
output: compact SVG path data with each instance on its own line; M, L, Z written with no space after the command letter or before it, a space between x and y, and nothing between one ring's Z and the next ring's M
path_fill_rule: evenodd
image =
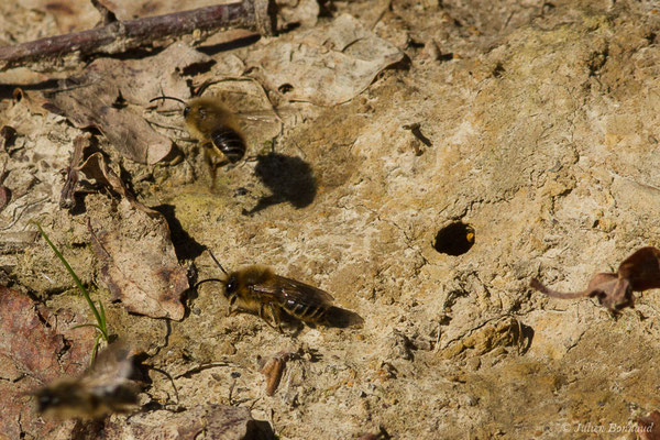
M622 262L616 274L594 275L583 292L552 290L536 278L531 279L530 286L553 298L596 297L602 306L616 312L626 307L635 307L632 292L660 287L660 250L650 246L641 248Z

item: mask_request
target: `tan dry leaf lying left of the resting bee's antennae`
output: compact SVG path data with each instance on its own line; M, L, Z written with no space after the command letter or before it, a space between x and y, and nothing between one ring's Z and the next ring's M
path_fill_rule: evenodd
M91 249L101 265L101 280L113 297L135 314L183 319L180 298L188 278L178 265L165 219L132 209L122 200L114 221L102 224L106 229L89 223Z

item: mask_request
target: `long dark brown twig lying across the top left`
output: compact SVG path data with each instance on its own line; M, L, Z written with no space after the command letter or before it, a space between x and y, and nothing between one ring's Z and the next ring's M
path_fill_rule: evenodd
M108 20L107 16L103 18ZM102 28L51 36L14 46L0 47L0 72L70 53L117 54L160 40L228 28L245 28L272 35L275 19L271 0L243 0L165 15L114 21Z

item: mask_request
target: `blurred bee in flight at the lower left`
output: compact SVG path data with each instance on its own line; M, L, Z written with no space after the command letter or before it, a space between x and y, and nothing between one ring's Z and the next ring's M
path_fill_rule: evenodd
M37 411L65 419L98 419L111 413L127 413L138 404L133 360L123 348L101 352L95 366L78 377L59 378L34 392Z

